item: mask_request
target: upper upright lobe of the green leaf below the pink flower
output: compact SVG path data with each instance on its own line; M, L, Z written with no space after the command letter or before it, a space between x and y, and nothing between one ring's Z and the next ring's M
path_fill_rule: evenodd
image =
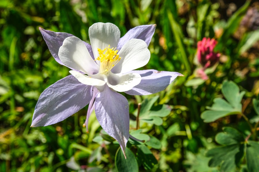
M240 102L245 92L242 91L239 93L239 88L233 81L224 81L222 85L222 93L227 101L241 112L242 105Z

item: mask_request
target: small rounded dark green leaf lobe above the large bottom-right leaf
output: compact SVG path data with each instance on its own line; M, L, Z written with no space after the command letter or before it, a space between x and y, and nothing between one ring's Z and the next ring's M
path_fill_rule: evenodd
M244 141L243 135L232 127L223 128L224 132L216 135L215 140L221 145L239 144Z

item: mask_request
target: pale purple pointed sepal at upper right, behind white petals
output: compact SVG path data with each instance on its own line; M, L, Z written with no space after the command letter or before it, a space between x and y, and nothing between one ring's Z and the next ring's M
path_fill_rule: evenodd
M151 38L155 32L156 24L151 25L141 25L129 30L121 39L119 40L117 49L120 50L121 47L133 38L144 40L149 45Z

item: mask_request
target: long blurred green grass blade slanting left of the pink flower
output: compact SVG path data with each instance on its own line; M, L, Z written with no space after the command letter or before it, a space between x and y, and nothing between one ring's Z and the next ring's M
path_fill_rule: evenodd
M167 10L167 16L168 16L168 19L170 21L172 31L174 33L174 38L176 40L176 43L177 43L177 45L180 49L180 53L182 55L181 60L182 60L184 66L186 68L186 71L188 72L188 74L190 74L191 73L191 67L190 67L190 64L188 62L188 58L187 58L185 48L184 48L184 45L183 45L183 42L182 42L183 34L181 32L180 26L175 21L172 13L169 10Z

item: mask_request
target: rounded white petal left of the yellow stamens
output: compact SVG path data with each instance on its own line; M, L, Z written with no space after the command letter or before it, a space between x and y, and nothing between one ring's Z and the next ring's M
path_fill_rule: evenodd
M86 74L98 73L99 66L92 59L84 42L75 36L64 40L59 48L58 57L68 67Z

